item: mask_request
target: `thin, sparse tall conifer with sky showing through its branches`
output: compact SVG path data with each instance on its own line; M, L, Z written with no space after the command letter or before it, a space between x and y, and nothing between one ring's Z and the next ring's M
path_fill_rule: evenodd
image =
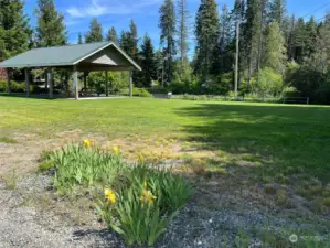
M181 61L181 66L188 62L189 52L189 20L190 14L188 11L187 0L178 0L178 47L179 47L179 58Z

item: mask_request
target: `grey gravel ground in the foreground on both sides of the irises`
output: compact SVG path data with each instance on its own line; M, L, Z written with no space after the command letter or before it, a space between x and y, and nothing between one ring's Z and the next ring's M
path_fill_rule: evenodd
M41 213L24 204L25 195L42 194L49 185L50 179L43 175L29 175L13 191L7 190L0 181L0 248L126 247L115 234L96 224L73 226L63 216ZM241 230L249 234L256 227L272 231L313 228L257 212L207 211L190 203L173 219L156 247L232 247Z

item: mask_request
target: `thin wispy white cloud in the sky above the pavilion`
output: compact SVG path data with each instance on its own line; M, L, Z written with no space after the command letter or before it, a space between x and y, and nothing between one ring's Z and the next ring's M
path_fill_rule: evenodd
M159 3L161 0L91 0L85 7L71 7L66 12L73 18L99 17L104 14L128 14L141 12L143 7Z

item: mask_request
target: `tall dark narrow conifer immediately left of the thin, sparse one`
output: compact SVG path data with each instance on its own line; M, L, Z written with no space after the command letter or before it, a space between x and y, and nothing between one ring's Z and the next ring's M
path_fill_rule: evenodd
M164 80L167 84L172 83L173 78L173 60L177 54L175 48L175 8L173 0L164 0L159 10L160 20L160 43L163 45L164 54Z

